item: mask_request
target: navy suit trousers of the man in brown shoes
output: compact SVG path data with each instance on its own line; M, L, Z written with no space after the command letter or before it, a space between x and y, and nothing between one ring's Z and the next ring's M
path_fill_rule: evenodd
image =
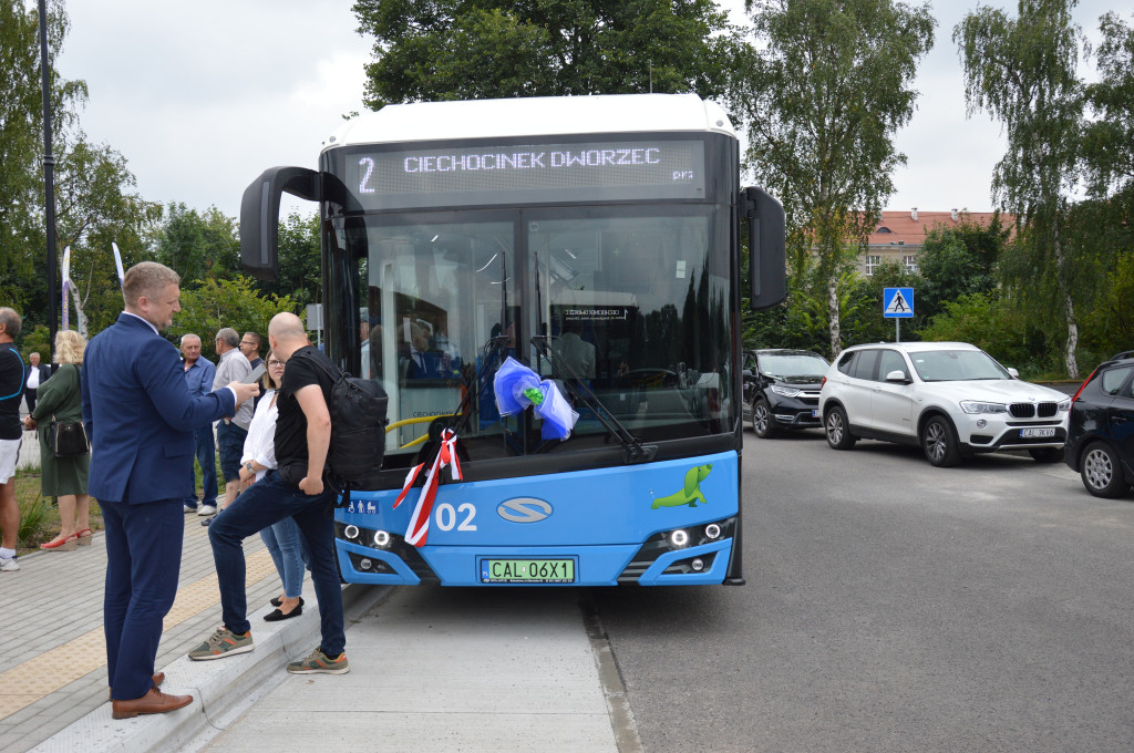
M162 620L177 595L181 500L127 505L100 499L99 505L107 527L102 611L110 687L119 701L138 699L153 686Z

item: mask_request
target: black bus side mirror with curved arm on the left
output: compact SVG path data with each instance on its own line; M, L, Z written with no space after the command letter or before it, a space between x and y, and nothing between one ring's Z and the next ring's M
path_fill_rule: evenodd
M284 192L318 202L323 176L307 168L269 168L244 189L240 200L240 263L252 277L280 279L279 221Z

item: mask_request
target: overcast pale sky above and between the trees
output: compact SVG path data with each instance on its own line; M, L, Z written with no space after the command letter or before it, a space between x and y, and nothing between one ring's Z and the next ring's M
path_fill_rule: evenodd
M52 2L52 0L49 0ZM85 79L88 138L129 162L151 201L239 213L265 168L316 166L345 113L361 110L371 41L352 0L82 0L59 71ZM722 2L739 23L743 0ZM1015 2L992 0L1015 12ZM975 0L936 0L937 43L920 67L917 112L897 135L908 158L887 209L992 209L989 184L1004 141L987 115L965 118L953 28ZM1075 19L1098 39L1098 18L1134 20L1134 0L1083 0ZM311 211L303 202L290 204ZM285 208L287 211L287 208Z

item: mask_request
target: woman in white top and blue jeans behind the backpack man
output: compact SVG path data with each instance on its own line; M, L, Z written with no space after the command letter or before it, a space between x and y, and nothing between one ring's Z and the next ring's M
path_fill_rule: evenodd
M264 363L268 371L261 380L263 396L256 404L256 413L248 425L248 437L244 440L244 456L240 459L242 488L251 487L276 467L276 418L279 415L276 398L284 380L284 362L269 350ZM274 623L298 617L303 614L303 570L307 561L299 527L294 519L286 517L261 531L260 538L263 539L272 561L276 562L276 572L284 581L284 595L272 599L276 611L264 615L264 619Z

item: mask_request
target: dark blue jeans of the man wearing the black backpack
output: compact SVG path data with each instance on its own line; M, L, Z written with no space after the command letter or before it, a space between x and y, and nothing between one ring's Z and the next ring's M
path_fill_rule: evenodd
M209 542L217 564L225 627L234 633L247 633L252 629L245 593L244 540L290 516L303 534L311 558L311 581L319 599L322 631L320 648L328 657L342 653L346 633L342 621L342 586L335 564L335 517L331 514L333 500L335 492L330 490L308 497L297 487L285 482L277 471L269 471L213 518L209 525Z

